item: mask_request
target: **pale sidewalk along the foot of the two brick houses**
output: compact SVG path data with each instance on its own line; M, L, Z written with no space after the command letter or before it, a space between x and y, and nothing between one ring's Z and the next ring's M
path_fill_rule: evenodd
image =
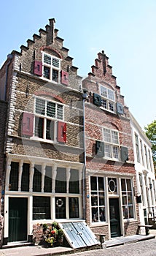
M117 246L121 244L131 244L139 241L155 238L156 230L149 230L149 235L134 235L127 237L112 238L105 242L105 247ZM99 246L100 248L100 246ZM8 249L0 249L0 256L55 256L55 255L68 255L78 252L71 247L52 247L44 248L42 246L21 246ZM89 254L89 251L88 251Z

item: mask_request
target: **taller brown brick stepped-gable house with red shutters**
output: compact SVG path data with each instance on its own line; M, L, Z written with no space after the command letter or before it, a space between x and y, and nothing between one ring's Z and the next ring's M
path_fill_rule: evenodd
M39 224L54 219L82 219L82 78L54 26L50 19L0 71L4 244L38 241Z

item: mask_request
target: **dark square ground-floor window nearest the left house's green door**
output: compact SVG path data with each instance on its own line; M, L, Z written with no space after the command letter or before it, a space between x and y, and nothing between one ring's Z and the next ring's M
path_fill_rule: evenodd
M50 197L33 197L33 219L51 219Z

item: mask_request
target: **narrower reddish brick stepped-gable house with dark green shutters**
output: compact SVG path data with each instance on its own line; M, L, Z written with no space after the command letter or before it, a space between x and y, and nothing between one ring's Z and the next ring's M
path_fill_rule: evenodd
M98 53L83 80L85 101L86 220L106 238L130 236L139 222L129 110L108 57Z

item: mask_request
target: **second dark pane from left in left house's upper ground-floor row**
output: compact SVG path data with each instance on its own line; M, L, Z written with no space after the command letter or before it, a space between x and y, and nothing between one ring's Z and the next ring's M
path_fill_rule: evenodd
M29 191L29 169L30 165L23 163L21 191Z

